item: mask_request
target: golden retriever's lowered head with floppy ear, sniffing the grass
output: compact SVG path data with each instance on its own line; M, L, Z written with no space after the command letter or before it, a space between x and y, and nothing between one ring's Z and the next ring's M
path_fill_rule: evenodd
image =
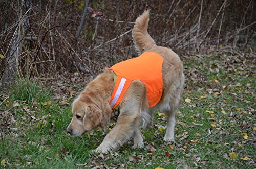
M67 128L72 136L80 136L100 126L102 110L92 102L87 102L79 96L72 106L73 118Z

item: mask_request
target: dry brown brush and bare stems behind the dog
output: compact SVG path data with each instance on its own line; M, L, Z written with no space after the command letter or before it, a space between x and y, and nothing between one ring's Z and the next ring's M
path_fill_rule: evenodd
M86 3L105 20L87 12ZM147 4L146 4L147 3ZM1 1L0 77L84 81L104 66L137 56L133 21L152 8L149 32L181 57L218 51L255 52L255 2L249 1ZM253 49L254 48L254 49Z

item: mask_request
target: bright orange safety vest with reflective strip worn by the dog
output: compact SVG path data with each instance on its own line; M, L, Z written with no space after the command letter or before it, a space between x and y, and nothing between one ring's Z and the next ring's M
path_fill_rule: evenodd
M162 56L155 52L145 52L136 58L113 65L110 69L117 77L109 102L112 109L121 102L133 80L140 80L146 85L148 105L155 106L163 91L162 64Z

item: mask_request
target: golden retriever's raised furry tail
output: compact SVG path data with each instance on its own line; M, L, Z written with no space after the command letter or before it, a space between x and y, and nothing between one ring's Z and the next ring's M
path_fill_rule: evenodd
M156 45L155 41L147 32L148 21L150 20L150 11L145 11L139 16L133 27L133 39L138 47L138 50L143 53L144 51L151 49L152 46Z

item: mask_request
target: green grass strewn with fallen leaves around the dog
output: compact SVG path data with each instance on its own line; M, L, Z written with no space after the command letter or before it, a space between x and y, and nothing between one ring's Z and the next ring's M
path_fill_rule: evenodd
M143 131L145 146L154 149L133 150L129 141L108 155L90 152L103 140L102 131L67 135L71 106L52 99L49 89L19 81L1 98L9 95L1 110L11 108L15 101L19 106L10 110L12 120L10 114L0 115L0 167L253 168L255 74L249 63L226 63L230 58L213 55L184 61L186 88L177 113L176 143L163 141L161 126L166 126L166 120L156 112L152 127ZM76 94L69 98L70 104ZM186 98L191 102L185 102Z

